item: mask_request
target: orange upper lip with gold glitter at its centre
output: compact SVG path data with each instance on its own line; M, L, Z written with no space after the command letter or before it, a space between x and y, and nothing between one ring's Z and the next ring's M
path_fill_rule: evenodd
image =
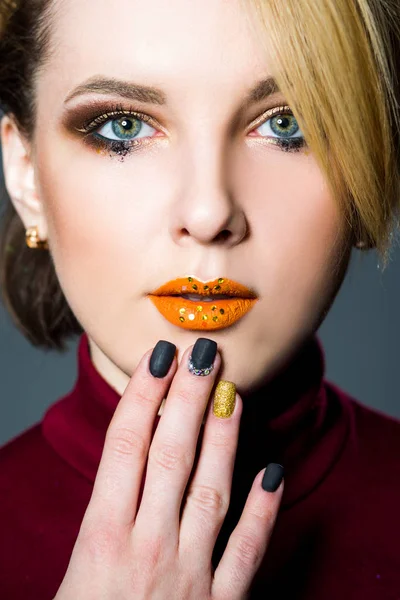
M201 281L196 277L178 277L167 281L159 288L150 292L152 296L182 296L183 294L196 294L200 296L233 296L235 298L257 298L257 294L245 285L228 279L218 277L210 281Z

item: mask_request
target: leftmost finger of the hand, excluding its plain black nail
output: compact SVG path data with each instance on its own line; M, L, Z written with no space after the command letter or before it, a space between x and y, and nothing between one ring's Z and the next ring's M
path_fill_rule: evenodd
M164 378L153 377L153 350L139 362L108 427L85 522L105 515L115 526L134 522L154 420L178 366L175 356Z

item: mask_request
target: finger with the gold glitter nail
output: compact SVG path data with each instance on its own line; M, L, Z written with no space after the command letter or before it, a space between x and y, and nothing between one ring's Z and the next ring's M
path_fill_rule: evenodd
M191 572L207 572L228 511L243 403L231 382L220 381L215 395L236 399L232 415L220 418L210 403L201 453L183 507L179 549ZM224 398L222 398L224 402Z

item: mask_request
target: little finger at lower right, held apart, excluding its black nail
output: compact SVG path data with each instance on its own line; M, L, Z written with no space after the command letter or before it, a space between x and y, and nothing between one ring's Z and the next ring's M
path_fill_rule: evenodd
M267 469L273 467L268 465ZM265 471L260 471L254 479L242 516L214 573L213 598L239 600L246 597L267 551L284 482L277 491L266 492L261 486Z

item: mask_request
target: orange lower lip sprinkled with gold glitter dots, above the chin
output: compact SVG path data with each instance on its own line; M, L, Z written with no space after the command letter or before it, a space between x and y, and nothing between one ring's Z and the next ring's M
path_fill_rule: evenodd
M229 298L202 302L180 296L149 295L157 310L173 325L182 329L216 330L230 327L244 317L257 298Z

